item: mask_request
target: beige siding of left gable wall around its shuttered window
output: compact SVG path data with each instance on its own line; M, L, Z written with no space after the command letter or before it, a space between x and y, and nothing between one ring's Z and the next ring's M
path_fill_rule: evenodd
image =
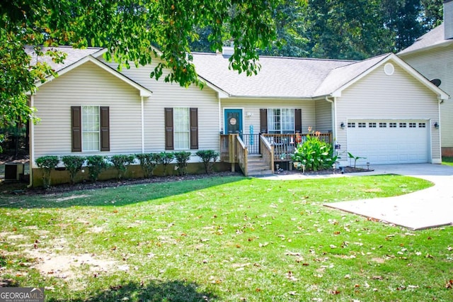
M71 154L71 106L110 107L110 152L98 154L142 150L139 91L91 62L40 86L34 104L41 119L34 127L35 158Z

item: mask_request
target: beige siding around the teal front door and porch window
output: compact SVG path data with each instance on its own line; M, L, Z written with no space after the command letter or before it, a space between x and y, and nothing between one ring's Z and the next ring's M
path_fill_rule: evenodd
M253 133L260 131L260 108L301 108L302 109L302 133L307 133L309 127L314 127L315 105L311 100L300 99L222 99L221 125L224 129L224 109L243 109L243 132L250 133L250 125L253 125ZM247 113L252 113L248 117Z

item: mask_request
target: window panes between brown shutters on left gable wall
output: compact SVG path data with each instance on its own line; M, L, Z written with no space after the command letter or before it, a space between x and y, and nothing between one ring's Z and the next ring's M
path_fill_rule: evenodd
M82 151L99 151L99 107L82 106Z

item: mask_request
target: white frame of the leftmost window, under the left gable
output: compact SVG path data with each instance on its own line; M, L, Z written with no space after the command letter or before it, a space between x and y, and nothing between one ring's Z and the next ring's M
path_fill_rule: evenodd
M86 114L86 109L93 109L89 115ZM96 113L96 114L93 114ZM97 129L96 127L90 127L90 124L95 125L97 119ZM94 135L93 135L94 134ZM91 140L90 136L97 138L96 140ZM93 144L97 142L97 144ZM81 144L82 152L99 152L101 151L101 113L99 112L99 106L81 106ZM88 147L91 146L92 147Z

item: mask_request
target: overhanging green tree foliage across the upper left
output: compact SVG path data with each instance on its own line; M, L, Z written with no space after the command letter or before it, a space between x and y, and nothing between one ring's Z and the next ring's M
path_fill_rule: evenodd
M159 57L150 74L181 86L200 84L189 44L194 28L207 28L211 50L221 50L227 35L234 41L231 68L247 74L259 69L258 50L277 35L273 14L281 0L11 0L0 3L0 128L33 117L25 93L52 75L45 63L30 65L25 45L106 47L107 60L119 68L147 65ZM225 26L227 25L227 26ZM159 48L159 52L153 46ZM64 55L47 52L56 62Z

